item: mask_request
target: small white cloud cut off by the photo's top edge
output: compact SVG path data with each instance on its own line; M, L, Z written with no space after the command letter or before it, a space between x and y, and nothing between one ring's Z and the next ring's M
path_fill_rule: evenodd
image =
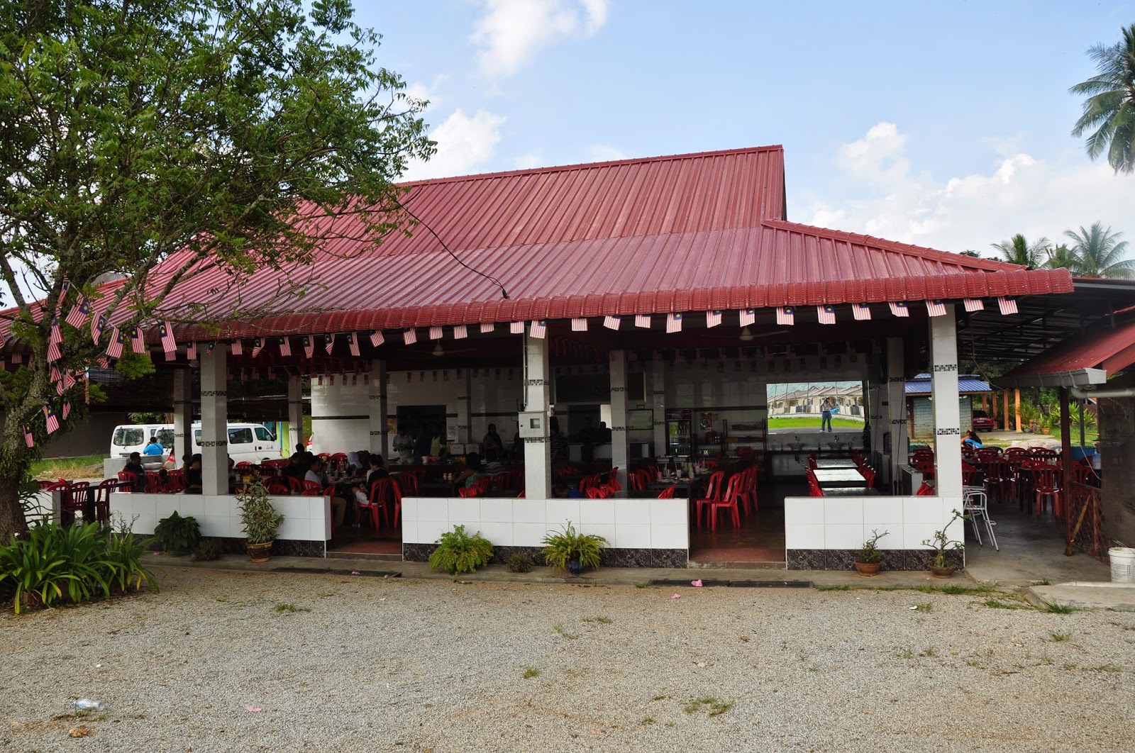
M540 48L594 35L607 23L608 0L484 0L470 36L480 48L481 73L516 73Z

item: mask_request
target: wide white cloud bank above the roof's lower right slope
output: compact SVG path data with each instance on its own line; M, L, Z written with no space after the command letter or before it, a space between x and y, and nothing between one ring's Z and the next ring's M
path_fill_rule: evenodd
M812 196L789 217L821 227L863 232L943 251L974 249L1015 232L1059 238L1066 229L1102 220L1135 236L1130 208L1135 180L1082 154L1046 161L1024 152L999 154L986 172L935 178L919 172L906 153L908 137L880 122L864 138L841 146L833 162L842 197ZM1000 152L1007 142L986 139ZM1076 159L1078 158L1078 159Z

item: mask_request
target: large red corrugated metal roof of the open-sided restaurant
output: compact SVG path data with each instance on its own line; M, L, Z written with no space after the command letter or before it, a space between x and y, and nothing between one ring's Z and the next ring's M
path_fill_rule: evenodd
M788 222L783 167L782 149L763 146L405 184L404 204L463 262L499 278L507 301L424 228L376 245L340 218L336 240L296 271L316 284L303 297L279 298L271 271L236 296L211 270L163 308L227 312L238 298L243 311L279 312L224 328L232 337L1073 290L1066 270ZM178 261L159 265L151 287Z

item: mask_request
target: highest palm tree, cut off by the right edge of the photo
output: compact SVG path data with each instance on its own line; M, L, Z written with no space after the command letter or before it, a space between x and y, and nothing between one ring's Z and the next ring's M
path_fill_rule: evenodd
M1069 92L1086 94L1084 115L1073 136L1091 132L1085 142L1093 160L1104 152L1116 172L1135 171L1135 24L1123 29L1113 45L1096 44L1087 51L1099 71Z

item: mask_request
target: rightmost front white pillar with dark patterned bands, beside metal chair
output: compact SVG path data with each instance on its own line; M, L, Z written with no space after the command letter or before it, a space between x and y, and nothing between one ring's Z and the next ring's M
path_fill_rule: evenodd
M958 331L953 305L930 318L931 396L939 497L961 497L961 412L958 405Z

